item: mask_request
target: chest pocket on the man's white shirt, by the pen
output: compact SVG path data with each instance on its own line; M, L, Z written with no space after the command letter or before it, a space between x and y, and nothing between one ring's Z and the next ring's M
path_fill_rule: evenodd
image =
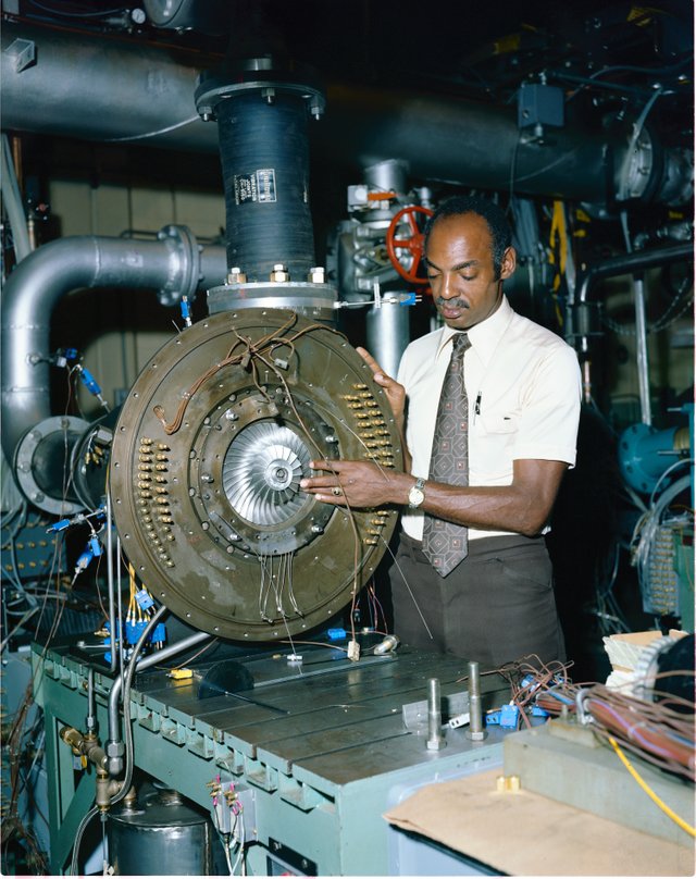
M476 416L469 438L472 484L509 484L512 481L512 448L520 421L515 414Z

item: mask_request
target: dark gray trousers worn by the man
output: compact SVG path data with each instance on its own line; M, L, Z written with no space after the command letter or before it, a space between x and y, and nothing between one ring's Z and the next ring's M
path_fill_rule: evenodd
M389 577L394 631L412 647L475 660L482 671L530 654L566 660L543 537L470 541L467 558L440 577L401 533Z

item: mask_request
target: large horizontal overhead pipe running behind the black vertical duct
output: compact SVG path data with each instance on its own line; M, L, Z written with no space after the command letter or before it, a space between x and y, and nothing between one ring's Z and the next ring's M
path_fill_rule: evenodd
M22 61L27 55L17 44L27 42L35 45L35 63ZM3 27L1 45L5 128L217 149L215 127L199 119L194 101L200 54L12 22ZM397 157L417 178L488 189L507 189L512 178L520 195L589 202L614 198L621 186L629 125L589 132L585 123L568 124L539 143L521 135L510 107L341 85L330 85L326 98L324 122L311 126L311 136L321 153L336 162L365 166ZM688 162L673 161L670 150L658 146L650 144L632 159L632 196L652 194L654 200L664 196L671 202L680 193L688 197Z

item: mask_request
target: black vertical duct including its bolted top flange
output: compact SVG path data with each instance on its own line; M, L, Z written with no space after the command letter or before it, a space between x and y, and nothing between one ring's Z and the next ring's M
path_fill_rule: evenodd
M227 267L250 283L314 268L309 210L310 114L324 110L311 75L263 55L200 76L196 108L217 123L227 218Z

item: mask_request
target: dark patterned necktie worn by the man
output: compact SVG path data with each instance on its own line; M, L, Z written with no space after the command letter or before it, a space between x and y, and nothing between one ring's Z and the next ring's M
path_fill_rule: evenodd
M467 333L453 336L452 356L437 407L428 479L447 485L469 484L469 401L464 386ZM423 553L440 577L453 570L469 552L469 529L425 513Z

